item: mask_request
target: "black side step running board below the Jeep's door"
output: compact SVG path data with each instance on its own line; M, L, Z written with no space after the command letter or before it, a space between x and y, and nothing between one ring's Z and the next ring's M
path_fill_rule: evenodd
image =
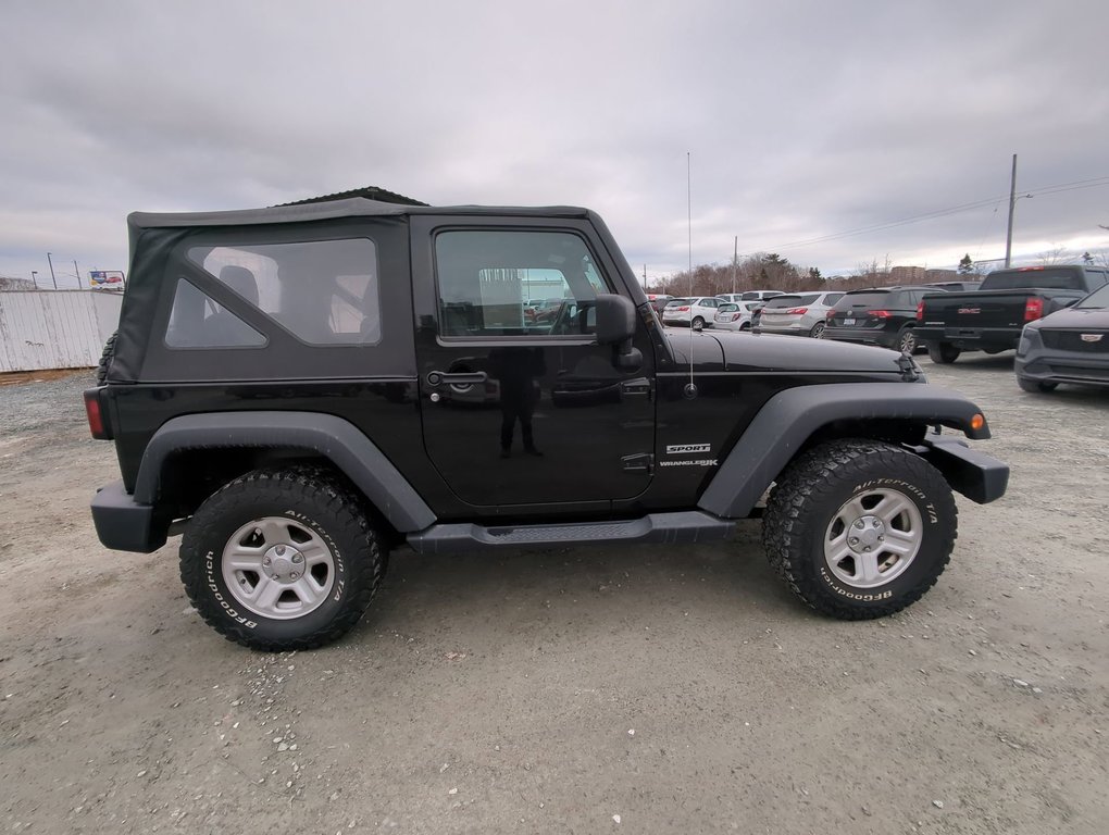
M546 546L604 542L688 543L724 539L734 520L688 510L651 513L642 519L619 522L573 525L511 525L486 528L480 525L433 525L408 534L408 544L419 553L458 553L490 548L542 548Z

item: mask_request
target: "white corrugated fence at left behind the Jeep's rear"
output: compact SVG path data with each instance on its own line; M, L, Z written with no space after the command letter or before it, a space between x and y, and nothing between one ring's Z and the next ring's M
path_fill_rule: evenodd
M96 365L122 302L91 289L0 292L0 373Z

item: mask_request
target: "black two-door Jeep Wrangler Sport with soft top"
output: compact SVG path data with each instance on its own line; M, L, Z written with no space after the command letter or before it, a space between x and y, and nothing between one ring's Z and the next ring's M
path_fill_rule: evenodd
M952 488L1005 492L1005 465L940 435L988 438L986 419L912 357L671 336L584 208L129 223L119 334L84 396L123 476L96 531L142 552L183 532L189 597L247 646L335 640L400 544L694 543L764 510L802 600L876 618L947 564ZM527 315L536 298L554 312Z

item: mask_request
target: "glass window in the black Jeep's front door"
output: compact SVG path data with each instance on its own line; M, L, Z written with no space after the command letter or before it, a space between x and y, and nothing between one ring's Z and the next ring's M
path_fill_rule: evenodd
M581 336L611 289L569 232L464 230L435 238L441 337Z

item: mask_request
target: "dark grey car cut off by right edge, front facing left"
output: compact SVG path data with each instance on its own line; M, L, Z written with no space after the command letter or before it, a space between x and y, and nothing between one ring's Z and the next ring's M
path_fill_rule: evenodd
M1025 325L1014 370L1025 391L1050 391L1060 383L1109 386L1109 284Z

